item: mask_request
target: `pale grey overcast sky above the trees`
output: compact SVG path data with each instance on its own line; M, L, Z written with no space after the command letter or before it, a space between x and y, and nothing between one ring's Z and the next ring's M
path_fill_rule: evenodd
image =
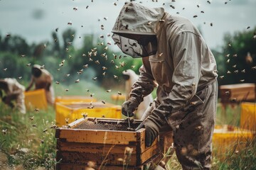
M200 27L210 48L222 45L224 33L256 26L255 0L211 0L210 4L206 0L137 2L144 6L164 7L171 14L190 19ZM75 45L79 45L82 39L79 37L86 33L107 37L123 5L123 0L0 0L0 33L21 35L28 42L46 42L51 40L55 28L59 28L59 38L63 30L73 28L76 30ZM195 15L198 17L193 18ZM68 25L69 22L72 26ZM104 30L101 25L104 25Z

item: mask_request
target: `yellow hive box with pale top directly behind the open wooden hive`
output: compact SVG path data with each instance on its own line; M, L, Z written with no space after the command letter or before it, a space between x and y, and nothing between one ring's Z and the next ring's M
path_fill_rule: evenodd
M121 106L101 102L55 103L56 125L72 123L87 114L93 118L121 118ZM68 121L66 121L68 120Z

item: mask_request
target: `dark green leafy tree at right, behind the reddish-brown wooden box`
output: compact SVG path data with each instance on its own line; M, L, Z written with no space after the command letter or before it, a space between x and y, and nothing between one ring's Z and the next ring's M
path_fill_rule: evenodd
M222 54L215 54L219 84L256 83L255 33L256 28L225 35Z

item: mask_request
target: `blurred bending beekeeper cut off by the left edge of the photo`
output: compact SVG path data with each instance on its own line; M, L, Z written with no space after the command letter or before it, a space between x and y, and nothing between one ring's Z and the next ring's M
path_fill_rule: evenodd
M4 91L4 94L1 90ZM19 84L16 79L0 79L1 100L11 108L17 108L21 113L26 113L24 91L25 87ZM12 101L15 101L15 103L12 103Z

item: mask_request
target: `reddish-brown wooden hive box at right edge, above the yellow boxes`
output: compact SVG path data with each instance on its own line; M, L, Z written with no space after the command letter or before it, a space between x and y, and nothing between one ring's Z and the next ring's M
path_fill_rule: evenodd
M222 103L255 100L255 84L230 84L220 86Z

